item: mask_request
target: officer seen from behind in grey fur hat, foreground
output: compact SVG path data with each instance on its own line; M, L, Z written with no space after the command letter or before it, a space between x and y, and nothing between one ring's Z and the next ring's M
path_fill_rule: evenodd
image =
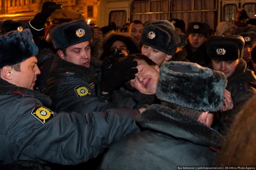
M210 126L223 106L226 81L222 72L196 63L163 64L156 88L161 105L153 104L137 117L143 131L112 145L101 169L217 165L224 137Z

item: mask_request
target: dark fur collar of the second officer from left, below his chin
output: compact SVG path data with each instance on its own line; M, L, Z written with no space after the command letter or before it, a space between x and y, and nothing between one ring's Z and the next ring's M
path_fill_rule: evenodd
M92 82L96 75L94 69L91 68L91 66L90 68L88 68L78 64L73 64L71 62L61 59L59 55L54 56L51 71L56 73L72 72L86 82Z

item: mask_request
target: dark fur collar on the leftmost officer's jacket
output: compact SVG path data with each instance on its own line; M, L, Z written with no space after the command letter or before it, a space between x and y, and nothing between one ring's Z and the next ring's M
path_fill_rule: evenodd
M23 88L23 87L16 86L14 84L10 84L6 80L3 80L2 78L0 78L0 95L9 94L11 92L21 92L22 94L24 93L24 94L32 95L38 100L40 100L42 104L46 107L52 104L52 100L50 99L49 96L30 90L28 88Z

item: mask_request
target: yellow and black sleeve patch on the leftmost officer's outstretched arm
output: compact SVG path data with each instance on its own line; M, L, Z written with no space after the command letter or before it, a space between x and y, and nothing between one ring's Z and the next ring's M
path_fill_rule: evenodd
M46 123L46 121L54 117L54 112L44 106L35 107L32 109L31 114L36 117L36 119L38 119L42 124Z

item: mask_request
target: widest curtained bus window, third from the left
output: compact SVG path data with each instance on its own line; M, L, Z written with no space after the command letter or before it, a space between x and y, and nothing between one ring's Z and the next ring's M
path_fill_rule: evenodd
M202 21L214 29L217 22L216 8L216 0L172 0L170 18L184 20L186 25Z

